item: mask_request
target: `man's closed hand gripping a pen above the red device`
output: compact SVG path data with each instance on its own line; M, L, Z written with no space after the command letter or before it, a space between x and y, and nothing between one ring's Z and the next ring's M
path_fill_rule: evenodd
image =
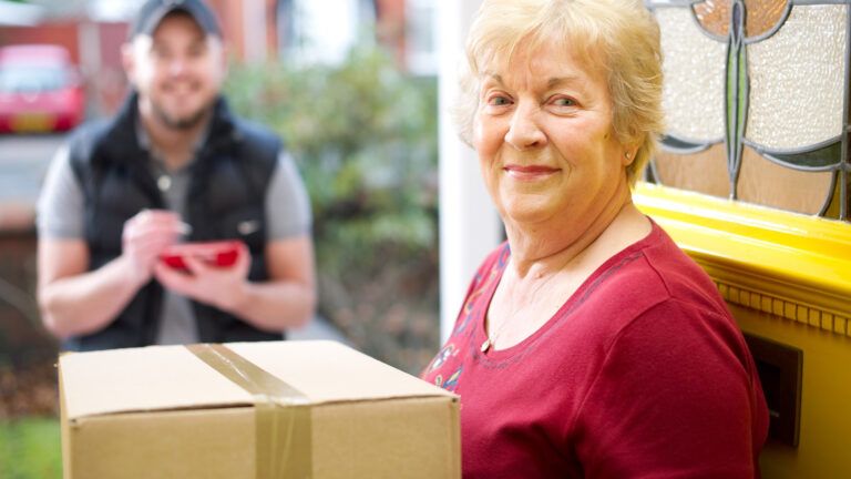
M163 251L175 243L186 225L176 213L145 210L124 223L122 256L131 264L131 276L136 285L144 285L154 274Z

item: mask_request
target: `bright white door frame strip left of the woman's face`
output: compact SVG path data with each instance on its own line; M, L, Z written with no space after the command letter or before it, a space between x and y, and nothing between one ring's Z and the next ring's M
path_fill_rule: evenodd
M501 241L501 223L473 152L457 134L449 108L458 91L464 41L481 0L438 2L440 33L440 320L441 342L452 330L475 269Z

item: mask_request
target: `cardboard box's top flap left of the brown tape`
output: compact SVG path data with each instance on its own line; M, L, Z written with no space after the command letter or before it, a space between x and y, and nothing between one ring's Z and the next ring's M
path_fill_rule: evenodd
M69 419L253 404L247 391L184 346L65 354L59 365Z

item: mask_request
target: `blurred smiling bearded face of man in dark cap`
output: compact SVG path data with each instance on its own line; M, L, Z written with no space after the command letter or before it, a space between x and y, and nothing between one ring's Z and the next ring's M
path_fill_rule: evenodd
M226 70L222 41L185 13L171 13L151 37L136 37L124 61L142 114L174 129L205 118Z

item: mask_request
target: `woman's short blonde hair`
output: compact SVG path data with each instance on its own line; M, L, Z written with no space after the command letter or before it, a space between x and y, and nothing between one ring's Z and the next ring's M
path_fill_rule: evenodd
M466 65L453 108L468 144L483 70L493 61L509 64L521 42L532 51L556 42L586 68L603 72L617 140L638 146L627 166L635 183L663 131L659 28L640 0L484 0L468 37Z

